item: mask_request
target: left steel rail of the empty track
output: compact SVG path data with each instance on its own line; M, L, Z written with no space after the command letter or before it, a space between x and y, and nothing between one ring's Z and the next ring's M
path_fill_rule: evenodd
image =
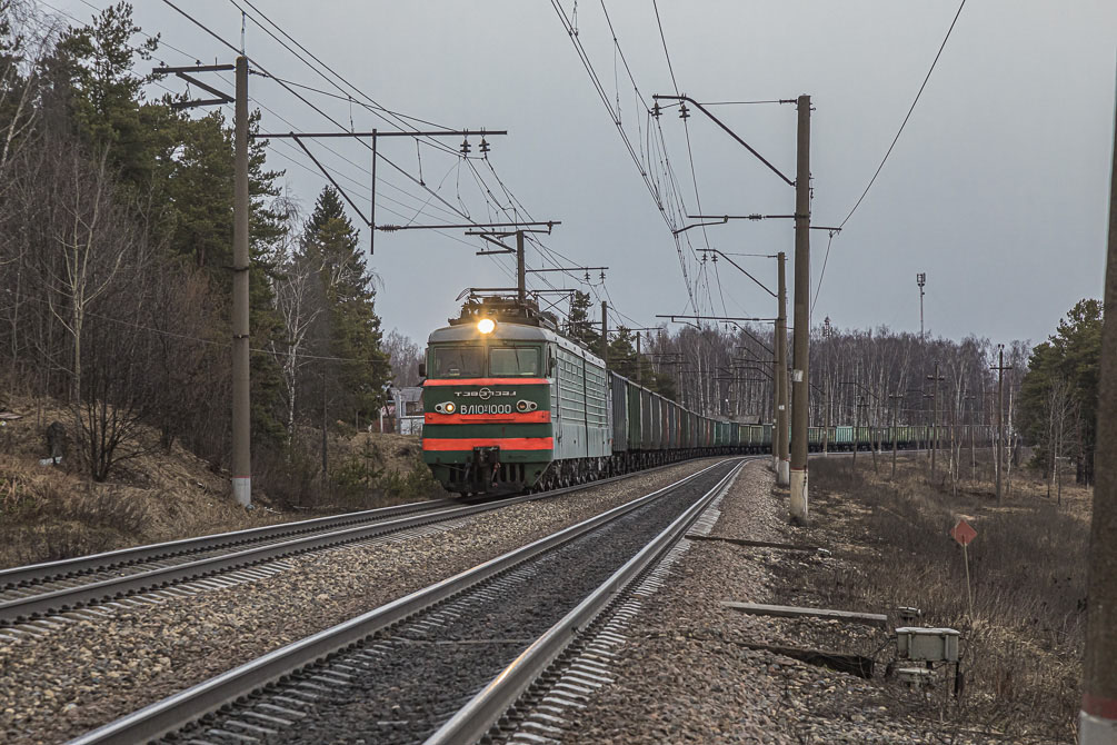
M503 574L524 562L564 545L605 523L642 507L663 494L700 477L719 461L638 499L614 507L576 525L491 558L471 570L437 582L362 615L319 631L151 704L139 711L69 741L69 745L125 745L146 742L181 729L222 706L312 666L331 655L354 647L378 631L427 608Z

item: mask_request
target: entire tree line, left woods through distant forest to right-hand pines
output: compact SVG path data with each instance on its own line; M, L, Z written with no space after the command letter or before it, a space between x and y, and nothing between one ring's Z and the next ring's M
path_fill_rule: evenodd
M0 375L65 402L98 479L175 442L217 465L228 451L232 128L219 109L145 97L153 77L137 70L157 46L125 2L66 27L31 0L0 0ZM281 483L311 429L362 427L389 384L418 383L421 350L383 334L338 194L324 189L304 214L267 153L251 140L252 436ZM575 293L562 327L600 350L591 309ZM1100 317L1083 300L1034 350L1005 348L1010 445L1037 445L1049 475L1072 462L1092 479ZM811 345L812 424L995 422L989 340L825 324ZM771 421L773 348L765 325L620 326L609 360L703 413Z

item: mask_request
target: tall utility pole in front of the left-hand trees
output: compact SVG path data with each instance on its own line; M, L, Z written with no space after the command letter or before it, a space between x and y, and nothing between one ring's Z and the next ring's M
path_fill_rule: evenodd
M237 57L232 200L232 498L252 504L248 367L248 59Z

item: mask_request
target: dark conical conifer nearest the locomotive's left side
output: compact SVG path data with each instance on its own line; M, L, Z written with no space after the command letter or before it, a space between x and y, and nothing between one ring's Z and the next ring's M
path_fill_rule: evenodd
M307 221L304 251L321 266L328 356L340 357L333 390L357 418L370 420L383 403L391 367L381 350L375 280L357 239L341 197L326 187Z

